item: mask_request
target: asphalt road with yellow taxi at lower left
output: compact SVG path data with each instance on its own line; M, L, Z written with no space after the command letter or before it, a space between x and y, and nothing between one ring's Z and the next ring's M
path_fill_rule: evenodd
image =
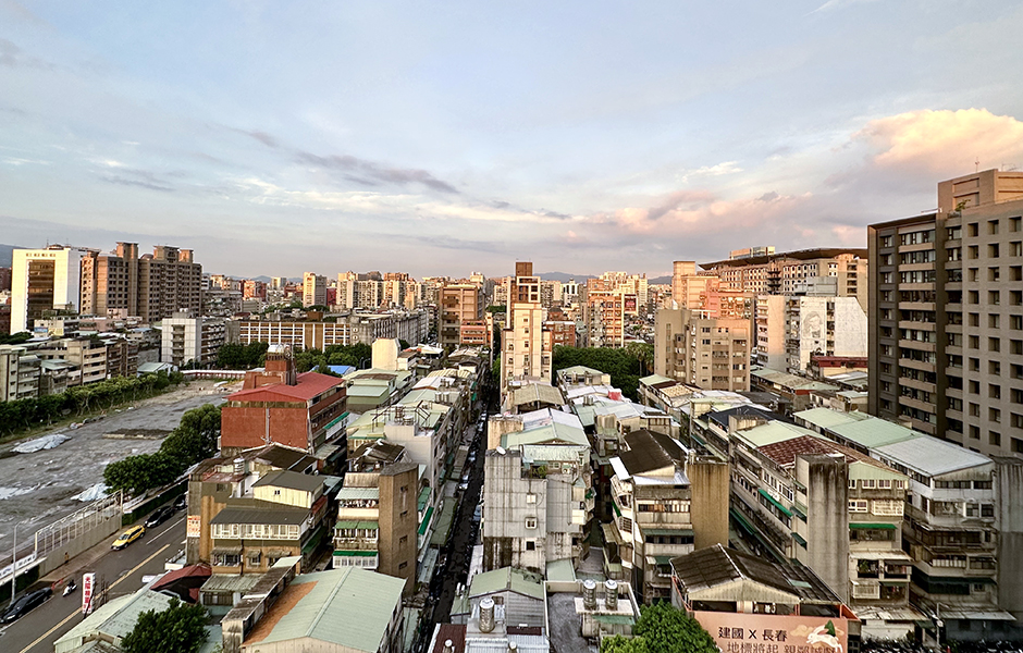
M121 531L118 531L120 534ZM116 535L99 546L110 546ZM97 590L107 584L107 599L131 594L143 587L143 576L162 574L163 565L184 547L185 514L177 513L122 551L110 551L90 569L96 572ZM72 562L72 565L74 563ZM70 596L54 592L53 597L0 631L0 651L4 653L52 653L53 642L82 619L82 575L76 575L78 590ZM8 586L10 591L10 586ZM0 590L2 591L2 590ZM0 600L5 609L11 599Z

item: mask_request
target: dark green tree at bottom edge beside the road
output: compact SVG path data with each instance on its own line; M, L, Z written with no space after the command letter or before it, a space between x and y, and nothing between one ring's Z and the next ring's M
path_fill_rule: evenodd
M177 599L162 612L138 615L135 628L121 640L124 653L196 653L206 640L206 608Z

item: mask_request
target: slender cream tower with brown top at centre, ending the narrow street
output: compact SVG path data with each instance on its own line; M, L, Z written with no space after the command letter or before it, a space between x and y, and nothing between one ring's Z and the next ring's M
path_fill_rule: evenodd
M543 328L540 278L533 276L531 262L515 263L507 315L501 336L502 392L517 380L540 379L550 384L552 338L551 332Z

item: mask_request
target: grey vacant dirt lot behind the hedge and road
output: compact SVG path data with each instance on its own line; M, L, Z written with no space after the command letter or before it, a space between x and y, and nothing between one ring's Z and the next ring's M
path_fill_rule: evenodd
M10 552L15 523L24 521L17 539L27 542L41 526L85 505L71 497L101 482L108 463L157 451L182 414L220 404L239 386L194 381L75 430L53 429L50 432L71 439L56 448L15 454L11 449L21 442L0 446L0 551Z

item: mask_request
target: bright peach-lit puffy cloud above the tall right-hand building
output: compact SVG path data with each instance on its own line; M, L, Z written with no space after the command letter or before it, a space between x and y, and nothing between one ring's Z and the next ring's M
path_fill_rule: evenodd
M1023 122L987 109L910 111L873 120L853 135L872 162L899 172L956 176L979 159L984 169L1023 163Z

